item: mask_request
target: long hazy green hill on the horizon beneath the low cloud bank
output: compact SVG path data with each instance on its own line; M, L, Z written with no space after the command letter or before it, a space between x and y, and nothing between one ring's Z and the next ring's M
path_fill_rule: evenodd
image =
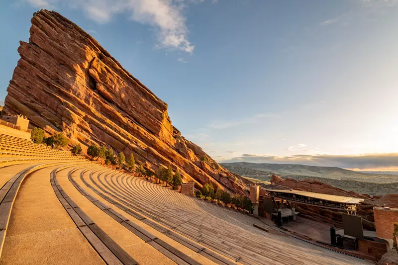
M234 173L243 176L270 176L273 173L282 176L308 176L308 177L327 177L339 179L368 179L385 178L383 174L369 174L345 170L337 167L318 167L295 164L268 164L268 163L221 163L223 167ZM238 173L239 172L239 173Z

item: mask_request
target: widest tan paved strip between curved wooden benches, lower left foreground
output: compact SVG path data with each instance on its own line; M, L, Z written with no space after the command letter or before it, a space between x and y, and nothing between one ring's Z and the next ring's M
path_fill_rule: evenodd
M104 264L51 187L50 173L58 167L36 171L22 182L11 211L0 264Z

